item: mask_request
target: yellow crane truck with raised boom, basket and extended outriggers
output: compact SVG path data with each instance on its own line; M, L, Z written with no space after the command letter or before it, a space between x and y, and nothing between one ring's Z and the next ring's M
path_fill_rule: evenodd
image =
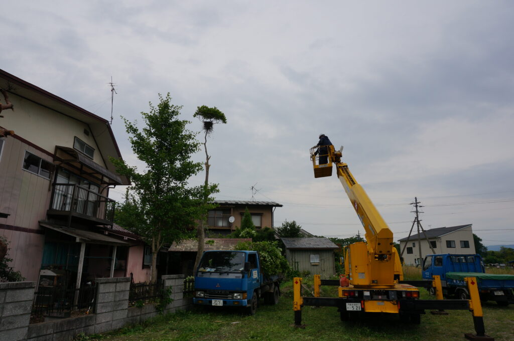
M328 155L319 152L327 150ZM318 164L320 156L327 156L328 163ZM293 311L295 326L302 325L303 306L337 307L341 320L354 320L366 313L396 314L403 321L420 323L425 310L434 314L447 314L445 310L470 310L473 315L476 335L465 334L468 339L492 339L485 335L482 307L476 279L466 279L470 292L469 300L444 300L439 276L432 281L403 280L399 254L393 245L393 233L378 213L362 186L341 161L342 147L333 145L310 148L314 177L332 176L333 168L350 199L365 230L366 242L356 242L344 249L344 270L346 281L320 279L314 276L314 297L302 296L302 278L293 279ZM322 285L338 286L338 297L320 297ZM437 299L419 299L418 287L433 287ZM471 292L473 294L471 294ZM478 338L477 338L478 337Z

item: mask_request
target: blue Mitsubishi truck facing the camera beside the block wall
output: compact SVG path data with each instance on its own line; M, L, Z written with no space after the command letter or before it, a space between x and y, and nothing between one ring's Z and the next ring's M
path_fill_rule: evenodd
M278 304L279 275L263 274L256 251L206 251L194 277L193 303L214 307L243 307L254 315L258 301Z

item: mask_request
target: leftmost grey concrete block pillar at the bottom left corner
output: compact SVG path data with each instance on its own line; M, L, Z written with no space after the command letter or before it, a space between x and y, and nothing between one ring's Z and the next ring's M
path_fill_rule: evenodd
M0 283L0 340L25 340L35 282Z

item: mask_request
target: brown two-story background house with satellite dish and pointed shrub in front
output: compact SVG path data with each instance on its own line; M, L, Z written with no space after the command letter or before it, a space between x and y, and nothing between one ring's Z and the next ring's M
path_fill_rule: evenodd
M273 213L277 207L282 207L281 204L274 201L214 200L214 203L219 206L209 211L207 235L232 233L241 226L246 208L252 216L256 229L265 227L272 229L274 224ZM230 217L234 217L233 222L230 222Z

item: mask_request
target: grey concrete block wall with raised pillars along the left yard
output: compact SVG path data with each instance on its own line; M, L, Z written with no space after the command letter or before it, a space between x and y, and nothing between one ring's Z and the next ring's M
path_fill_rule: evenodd
M173 301L163 313L189 309L183 298L183 275L162 276L164 287L172 288ZM157 316L153 304L128 308L130 277L97 278L95 313L29 325L35 282L0 283L0 341L71 341L79 334L97 334L138 324Z

